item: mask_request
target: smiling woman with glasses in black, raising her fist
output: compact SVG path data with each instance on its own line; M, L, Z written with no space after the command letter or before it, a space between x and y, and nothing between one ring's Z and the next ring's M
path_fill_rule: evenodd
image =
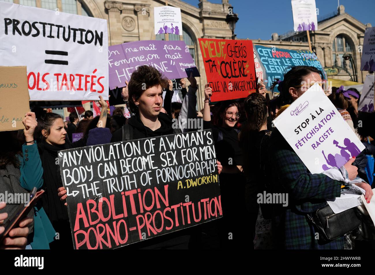
M243 244L241 237L245 228L243 219L245 209L245 177L242 173L242 150L239 146L236 128L240 114L240 104L236 101L222 101L216 117L211 123L210 96L212 89L205 85L204 89L203 128L212 129L217 160L223 169L219 176L223 219L218 220L220 247L233 248Z

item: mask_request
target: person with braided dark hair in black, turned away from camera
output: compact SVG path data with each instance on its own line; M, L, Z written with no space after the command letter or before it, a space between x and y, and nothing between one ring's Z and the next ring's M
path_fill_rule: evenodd
M267 176L270 171L268 148L272 133L267 130L267 101L263 95L253 93L245 99L244 108L248 120L239 134L239 143L244 155L242 168L246 175L246 210L250 216L249 228L252 229L250 241L254 239L255 249L270 249L272 208L257 202L257 194L263 194L271 181ZM254 235L255 238L252 238Z

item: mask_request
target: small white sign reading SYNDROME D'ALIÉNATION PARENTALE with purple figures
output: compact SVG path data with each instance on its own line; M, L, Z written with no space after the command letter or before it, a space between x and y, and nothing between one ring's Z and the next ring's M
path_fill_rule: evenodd
M181 9L179 7L154 7L155 34L182 35Z

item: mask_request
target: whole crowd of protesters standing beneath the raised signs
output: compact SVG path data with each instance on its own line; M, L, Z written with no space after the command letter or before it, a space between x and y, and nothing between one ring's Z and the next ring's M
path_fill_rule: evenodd
M0 132L1 140L9 144L0 148L1 192L25 193L33 187L45 190L33 211L10 231L1 248L73 249L59 150L197 130L181 124L179 128L173 127L172 119L178 117L202 119L203 129L213 131L223 217L124 249L362 247L366 241L354 241L354 233L332 241L316 238L317 229L308 214L326 205L327 199L340 196L343 182L326 174L312 174L272 124L310 86L324 82L322 71L315 67L291 67L283 80L275 79L269 90L261 80L257 91L247 98L216 104L210 102L212 89L207 84L201 112L196 111L196 80L192 74L187 80L180 80L182 103L171 102L171 80L153 67L140 66L122 88L123 99L132 113L130 118L124 117L120 107L110 116L107 103L101 98L99 116L93 117L91 111L86 111L84 119L79 120L77 113L71 113L69 123L65 123L59 114L38 112L36 116L28 112L23 119L23 131ZM142 89L144 83L146 89ZM272 92L278 95L271 99ZM356 185L366 191L369 203L373 193L366 155L375 153L375 113L358 110L360 93L354 88L346 91L344 87L333 87L327 96L366 147L344 167L349 180L362 179ZM78 132L84 133L83 138L72 142L72 135ZM259 204L257 194L264 191L288 193L288 206ZM0 224L16 208L15 204L0 204ZM0 233L2 230L0 227Z

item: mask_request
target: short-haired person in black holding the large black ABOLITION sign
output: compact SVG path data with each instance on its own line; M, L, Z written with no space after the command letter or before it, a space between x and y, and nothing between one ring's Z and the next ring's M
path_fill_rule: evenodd
M197 88L193 77L190 82L189 92L195 92ZM144 84L146 89L142 89ZM130 117L128 124L113 133L111 142L159 137L181 132L180 129L172 127L172 117L160 112L163 104L162 89L167 85L168 79L151 66L139 66L136 71L133 71L127 87L129 89L130 110L135 113L135 116ZM219 162L217 167L220 172L221 165ZM152 245L152 248L187 248L189 236L185 234L185 231L170 233L153 241L148 241L146 245ZM151 248L151 246L148 248Z

